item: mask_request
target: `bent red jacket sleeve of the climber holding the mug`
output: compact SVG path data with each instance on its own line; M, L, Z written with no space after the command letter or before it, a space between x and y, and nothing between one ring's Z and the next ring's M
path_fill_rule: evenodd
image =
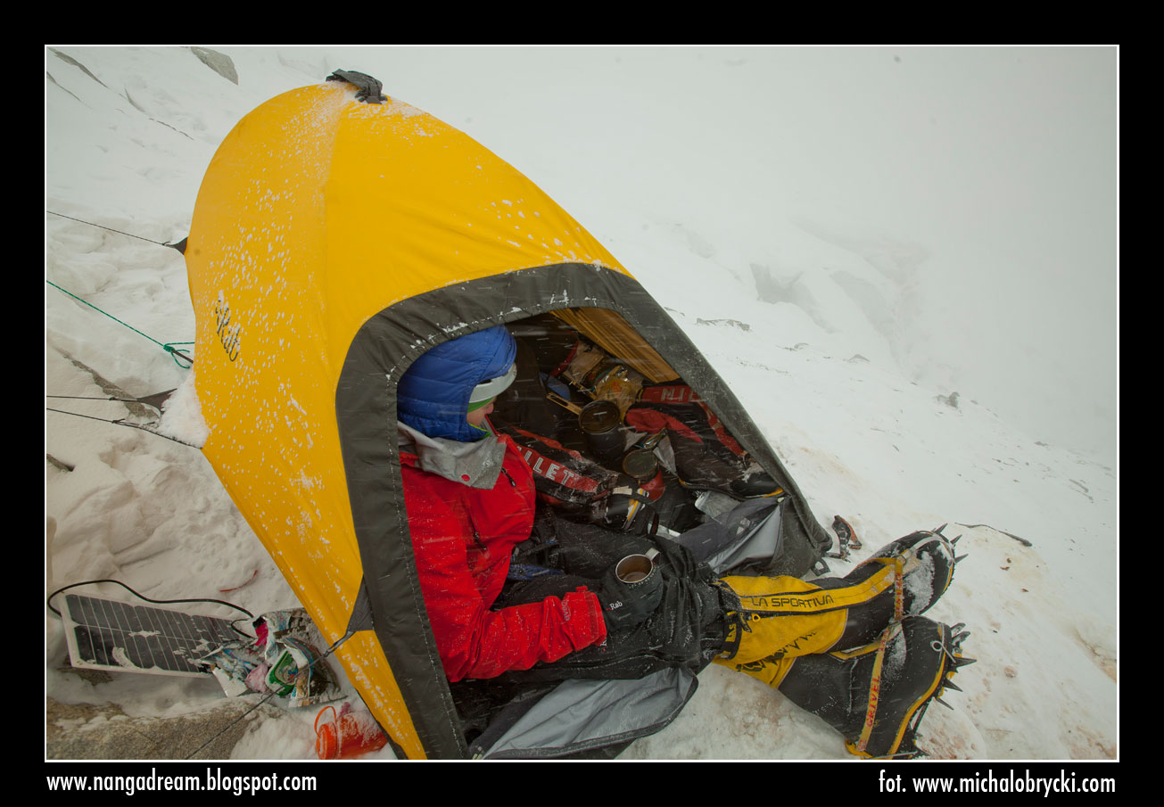
M469 528L455 504L424 494L406 503L420 589L450 681L528 670L606 638L602 606L585 588L491 610L469 571Z

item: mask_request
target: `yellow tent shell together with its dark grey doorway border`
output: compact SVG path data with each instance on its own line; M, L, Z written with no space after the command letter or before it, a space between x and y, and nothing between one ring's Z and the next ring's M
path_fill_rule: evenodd
M617 313L794 494L786 545L811 555L829 539L734 396L592 235L463 133L356 93L283 93L207 168L184 253L203 453L324 639L350 632L335 658L393 746L461 758L396 447L396 385L431 347L551 311Z

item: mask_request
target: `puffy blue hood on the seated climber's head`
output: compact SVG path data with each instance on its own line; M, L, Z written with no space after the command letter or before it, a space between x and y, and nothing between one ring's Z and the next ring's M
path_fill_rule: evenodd
M397 417L421 434L471 443L484 434L466 420L469 395L483 381L504 375L517 344L503 326L441 342L400 377Z

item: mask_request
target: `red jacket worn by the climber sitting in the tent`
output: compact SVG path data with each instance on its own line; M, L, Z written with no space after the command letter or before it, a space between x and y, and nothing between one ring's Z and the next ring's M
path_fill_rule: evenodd
M416 454L400 452L420 590L450 681L528 670L606 638L602 606L585 588L492 610L534 508L533 472L509 437L498 439L505 454L491 489L421 470Z

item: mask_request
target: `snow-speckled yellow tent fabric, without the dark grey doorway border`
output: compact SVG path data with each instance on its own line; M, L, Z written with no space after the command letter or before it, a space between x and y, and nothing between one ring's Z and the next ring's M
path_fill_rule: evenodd
M375 585L335 417L356 332L452 283L568 261L624 271L467 135L398 99L355 95L324 82L246 115L207 168L184 253L203 453L328 640L343 636L362 582ZM375 635L354 636L336 658L367 682L361 695L405 753L426 756Z

